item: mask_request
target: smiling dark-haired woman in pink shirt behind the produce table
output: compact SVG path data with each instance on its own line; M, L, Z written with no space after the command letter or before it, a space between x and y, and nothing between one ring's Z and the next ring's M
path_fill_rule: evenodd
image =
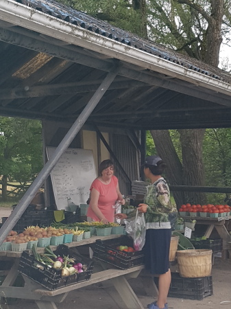
M114 222L114 205L116 201L125 203L119 183L114 176L111 160L104 160L99 165L99 177L90 186L90 205L86 216L88 221L101 221L104 224Z

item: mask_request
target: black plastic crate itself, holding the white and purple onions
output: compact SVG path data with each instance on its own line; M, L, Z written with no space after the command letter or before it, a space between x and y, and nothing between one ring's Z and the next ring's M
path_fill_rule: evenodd
M19 272L42 286L45 286L45 288L49 290L56 290L63 286L69 286L90 279L94 266L92 259L80 255L80 253L77 253L77 251L70 249L64 244L60 244L58 249L54 252L56 255L69 255L69 258L74 258L77 262L86 265L86 271L62 277L62 270L46 266L35 260L34 257L29 255L26 251L23 251L19 261Z

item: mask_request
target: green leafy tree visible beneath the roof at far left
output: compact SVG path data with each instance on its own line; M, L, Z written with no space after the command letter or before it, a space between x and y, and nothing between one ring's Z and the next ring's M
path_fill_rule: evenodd
M23 187L42 168L42 127L36 120L0 117L0 130L0 176L6 201L8 179Z

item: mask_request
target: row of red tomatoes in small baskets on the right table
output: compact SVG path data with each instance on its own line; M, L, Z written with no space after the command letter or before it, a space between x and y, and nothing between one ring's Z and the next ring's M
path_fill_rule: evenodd
M208 216L208 217L226 217L230 216L231 207L229 205L199 205L199 204L185 204L181 205L180 214L182 216Z

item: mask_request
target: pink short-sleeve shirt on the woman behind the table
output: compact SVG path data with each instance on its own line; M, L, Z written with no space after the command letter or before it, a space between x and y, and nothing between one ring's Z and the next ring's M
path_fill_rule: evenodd
M114 222L114 208L112 206L115 205L115 202L118 199L117 184L118 179L113 175L108 185L101 183L99 179L95 179L95 181L93 181L92 185L90 186L90 191L93 190L94 187L95 190L99 192L98 207L109 222ZM91 207L88 208L86 216L92 218L95 221L99 221L99 218L96 216Z

